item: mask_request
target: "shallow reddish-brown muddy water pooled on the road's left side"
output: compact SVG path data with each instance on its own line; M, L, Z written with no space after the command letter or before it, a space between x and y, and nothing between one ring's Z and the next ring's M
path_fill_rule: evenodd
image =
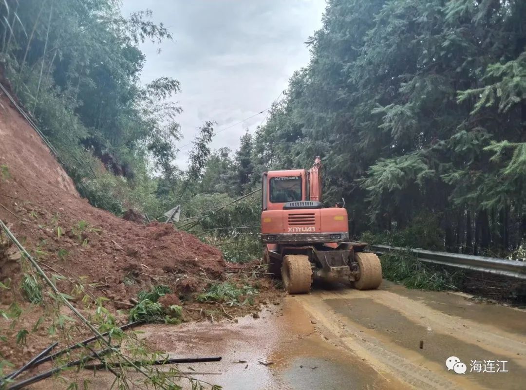
M286 299L259 319L238 323L145 326L148 344L178 356L222 356L219 363L179 369L225 389L403 389L354 354L324 338L301 305ZM191 369L196 370L193 372ZM204 374L200 374L204 373ZM182 384L182 382L181 382Z

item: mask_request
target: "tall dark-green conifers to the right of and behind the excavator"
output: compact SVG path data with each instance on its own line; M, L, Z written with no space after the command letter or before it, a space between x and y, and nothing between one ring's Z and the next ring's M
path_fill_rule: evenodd
M321 155L355 233L432 229L421 245L520 247L526 2L331 0L307 44L310 64L256 132L258 167Z

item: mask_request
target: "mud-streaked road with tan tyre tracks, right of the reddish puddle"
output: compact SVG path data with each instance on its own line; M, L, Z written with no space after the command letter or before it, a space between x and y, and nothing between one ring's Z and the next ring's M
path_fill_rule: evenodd
M399 382L427 390L526 388L525 311L392 283L378 291L318 290L291 300L342 354L360 357L386 379L348 388L398 388ZM450 356L466 364L465 374L447 370Z

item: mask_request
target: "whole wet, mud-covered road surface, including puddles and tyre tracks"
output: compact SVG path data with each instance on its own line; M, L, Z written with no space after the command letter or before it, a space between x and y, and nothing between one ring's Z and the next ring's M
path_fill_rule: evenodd
M141 330L174 355L222 356L179 369L225 389L526 388L526 311L468 298L389 282L365 292L318 286L269 302L259 319ZM448 371L450 356L466 364L465 374ZM471 371L477 362L497 371L497 361L507 372ZM101 373L92 384L109 380Z

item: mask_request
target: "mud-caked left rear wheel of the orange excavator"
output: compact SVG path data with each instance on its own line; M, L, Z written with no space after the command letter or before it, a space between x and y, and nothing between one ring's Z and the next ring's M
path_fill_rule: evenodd
M308 293L312 282L309 256L304 254L286 255L281 265L281 279L285 291L289 294Z

